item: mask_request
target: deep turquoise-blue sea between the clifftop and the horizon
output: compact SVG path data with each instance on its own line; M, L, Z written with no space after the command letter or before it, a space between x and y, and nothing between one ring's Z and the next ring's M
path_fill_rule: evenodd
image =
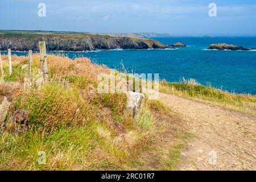
M256 37L174 37L155 38L155 40L168 45L183 42L188 47L62 53L72 59L81 56L90 57L93 61L108 65L110 68L120 67L122 61L130 72L159 73L161 79L165 78L170 82L179 81L182 77L195 78L201 84L210 84L230 92L256 94L256 51L207 50L211 43L228 43L256 48Z

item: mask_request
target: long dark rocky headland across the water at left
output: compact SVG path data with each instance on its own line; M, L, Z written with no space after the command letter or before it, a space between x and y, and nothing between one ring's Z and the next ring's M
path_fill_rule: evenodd
M96 49L159 49L168 48L156 40L117 38L90 34L0 34L0 49L38 51L38 42L46 42L47 51L92 51Z

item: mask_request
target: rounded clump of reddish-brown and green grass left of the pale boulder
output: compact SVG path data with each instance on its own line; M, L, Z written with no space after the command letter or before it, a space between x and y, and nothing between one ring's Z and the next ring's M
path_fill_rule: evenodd
M81 98L79 90L58 84L46 84L22 94L14 102L14 109L26 109L30 124L47 132L61 126L82 125L94 116L93 106Z

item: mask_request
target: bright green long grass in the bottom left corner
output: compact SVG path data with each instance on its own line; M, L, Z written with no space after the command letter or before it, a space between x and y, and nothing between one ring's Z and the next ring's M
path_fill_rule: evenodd
M41 170L78 167L84 155L102 142L93 130L95 127L96 123L90 123L90 126L84 127L63 127L51 134L39 131L29 131L22 135L3 133L1 168ZM46 165L38 164L39 151L46 152ZM19 165L12 166L13 163Z

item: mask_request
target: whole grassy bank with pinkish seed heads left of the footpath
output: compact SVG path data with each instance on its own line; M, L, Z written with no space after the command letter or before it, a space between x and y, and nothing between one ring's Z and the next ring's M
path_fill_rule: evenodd
M11 107L0 123L0 169L122 169L154 137L154 119L147 106L134 119L124 112L125 94L97 93L97 76L110 73L104 65L48 55L49 77L45 78L39 72L39 55L33 55L29 79L27 69L21 69L27 57L12 58L9 76L7 57L2 56L0 93ZM20 109L28 113L23 133L11 122ZM40 151L46 154L44 165L38 163Z

